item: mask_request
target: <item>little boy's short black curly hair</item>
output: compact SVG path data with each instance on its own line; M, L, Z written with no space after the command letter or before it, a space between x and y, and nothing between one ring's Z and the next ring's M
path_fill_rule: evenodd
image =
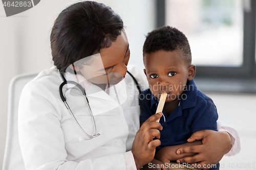
M176 28L164 26L147 34L143 45L143 62L145 54L160 50L166 52L179 50L183 61L191 64L191 51L187 37Z

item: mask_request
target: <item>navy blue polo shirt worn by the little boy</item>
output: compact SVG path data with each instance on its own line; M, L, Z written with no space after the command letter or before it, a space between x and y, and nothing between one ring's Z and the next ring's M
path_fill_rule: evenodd
M186 143L191 134L197 131L217 131L216 106L208 96L197 89L194 80L187 82L184 94L186 94L183 95L184 100L180 101L173 113L167 117L163 112L160 118L163 130L160 131L161 145L156 148L156 151L170 145ZM140 99L140 122L145 122L147 118L156 113L158 99L150 89L142 91Z

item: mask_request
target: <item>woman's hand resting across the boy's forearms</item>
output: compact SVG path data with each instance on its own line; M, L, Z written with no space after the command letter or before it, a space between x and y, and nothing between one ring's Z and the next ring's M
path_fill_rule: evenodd
M201 139L201 145L183 147L176 151L178 155L183 153L198 153L197 155L178 159L177 162L190 164L198 162L197 164L200 164L201 167L204 167L204 164L217 164L230 148L231 139L227 132L216 132L212 130L198 131L193 133L187 141L193 142Z

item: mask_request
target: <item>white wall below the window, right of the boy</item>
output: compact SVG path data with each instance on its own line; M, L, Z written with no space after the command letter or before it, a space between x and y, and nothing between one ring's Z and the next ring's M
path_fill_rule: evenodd
M240 153L231 157L224 156L220 161L220 169L256 169L256 94L207 93L207 95L214 101L219 119L236 129L241 140Z

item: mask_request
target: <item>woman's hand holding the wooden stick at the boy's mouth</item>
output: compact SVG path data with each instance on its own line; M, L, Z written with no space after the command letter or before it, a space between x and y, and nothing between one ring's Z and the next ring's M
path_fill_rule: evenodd
M162 113L152 115L142 124L136 133L135 139L133 141L132 153L137 169L141 168L147 163L150 163L153 160L156 147L161 144L159 140L159 130L162 130L163 127L160 123L156 122L156 120L161 116ZM158 139L153 140L154 137Z

